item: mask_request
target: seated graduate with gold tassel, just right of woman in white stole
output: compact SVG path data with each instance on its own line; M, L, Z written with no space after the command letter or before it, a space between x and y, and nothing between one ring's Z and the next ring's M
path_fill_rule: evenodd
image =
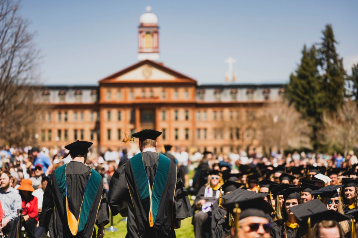
M224 194L228 194L244 186L245 185L239 182L228 180L223 184L223 186L221 186L221 190L224 192ZM228 210L222 206L224 202L225 199L219 198L219 206L212 211L211 237L213 238L221 238L224 235L228 235L233 225L232 214L230 214Z

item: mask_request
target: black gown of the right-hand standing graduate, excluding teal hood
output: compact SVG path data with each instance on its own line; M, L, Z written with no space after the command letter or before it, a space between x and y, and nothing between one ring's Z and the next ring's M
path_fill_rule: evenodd
M158 167L159 155L143 152L142 161L150 185ZM174 195L174 202L173 202ZM131 160L122 164L113 174L108 192L113 215L127 216L127 238L175 237L175 220L192 216L190 201L175 163L170 161L168 179L160 199L158 214L153 227L140 199Z

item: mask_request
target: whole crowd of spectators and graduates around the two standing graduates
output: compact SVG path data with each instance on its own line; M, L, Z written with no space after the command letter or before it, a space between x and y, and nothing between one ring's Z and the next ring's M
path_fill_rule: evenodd
M118 168L139 152L124 148L95 154L89 149L85 163L101 175L108 193ZM353 151L345 157L297 151L263 156L244 150L192 152L165 145L158 152L175 163L191 195L195 238L327 237L323 235L327 230L334 231L335 237L356 235L352 216L358 208L358 159ZM57 168L71 160L64 147L0 148L4 234L11 233L19 208L26 231L37 233L47 183Z

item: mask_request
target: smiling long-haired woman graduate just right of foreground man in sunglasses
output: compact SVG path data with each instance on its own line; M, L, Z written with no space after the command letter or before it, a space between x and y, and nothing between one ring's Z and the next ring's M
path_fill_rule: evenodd
M301 203L300 191L307 187L289 187L281 192L284 200L282 204L281 216L279 220L272 223L271 237L274 238L295 238L299 228L296 216L290 210L291 207L297 206ZM278 208L279 206L277 206ZM279 209L276 209L277 213Z

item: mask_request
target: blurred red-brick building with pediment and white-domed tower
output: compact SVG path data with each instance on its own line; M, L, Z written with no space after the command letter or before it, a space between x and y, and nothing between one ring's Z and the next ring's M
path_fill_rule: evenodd
M38 144L79 139L94 142L94 148L136 149L137 143L121 142L124 133L156 129L163 132L159 145L215 152L259 146L255 116L280 99L284 85L198 85L158 62L158 19L149 11L140 18L139 62L98 85L43 88L42 101L49 107L40 116Z

